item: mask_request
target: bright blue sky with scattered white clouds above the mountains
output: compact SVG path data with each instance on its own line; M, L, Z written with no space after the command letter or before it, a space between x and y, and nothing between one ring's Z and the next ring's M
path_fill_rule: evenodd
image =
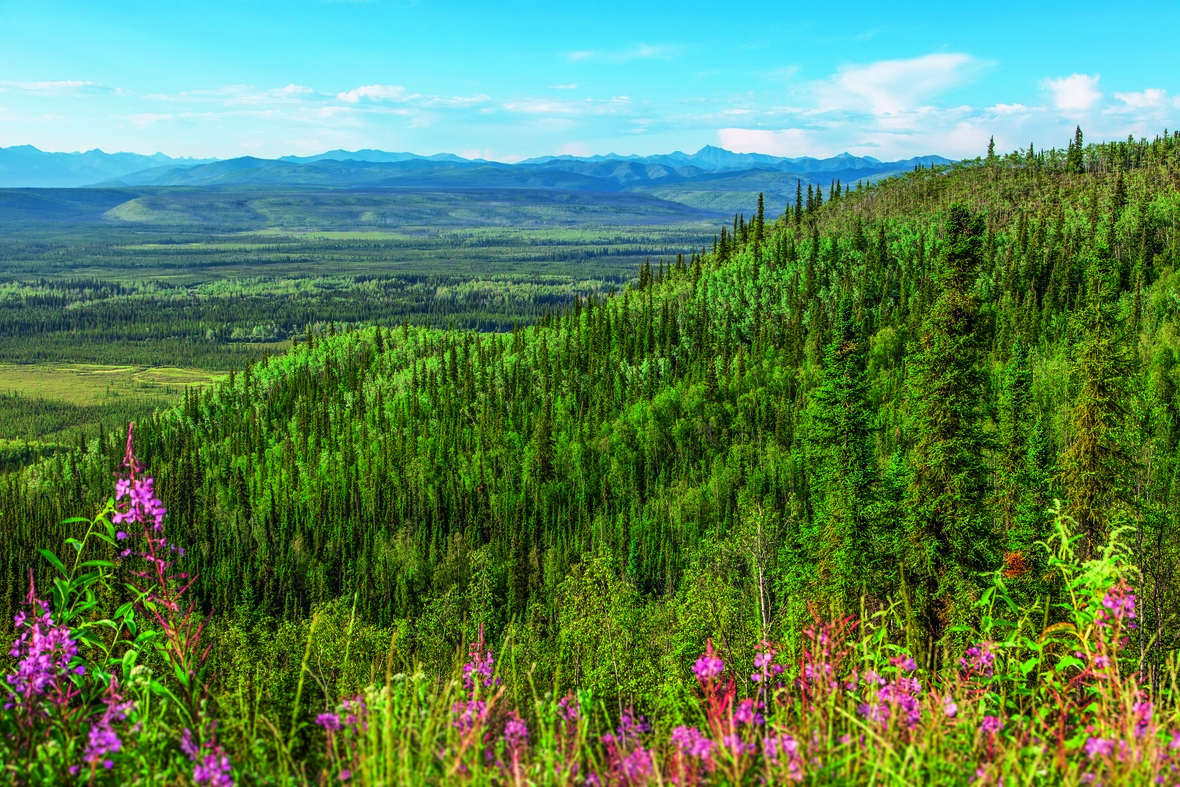
M0 0L0 146L974 157L1176 127L1178 34L1174 0Z

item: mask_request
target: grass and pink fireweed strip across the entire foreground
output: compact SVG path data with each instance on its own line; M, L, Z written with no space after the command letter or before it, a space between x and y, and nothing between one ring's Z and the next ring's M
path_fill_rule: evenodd
M15 785L1138 785L1180 781L1176 667L1145 675L1130 647L1136 579L1116 530L1080 560L1055 512L1049 595L1018 605L1003 573L978 625L930 669L905 647L904 603L814 622L789 649L761 642L738 674L712 643L687 699L650 713L559 694L505 670L483 627L446 680L356 674L355 608L342 649L302 644L294 703L274 687L210 690L195 577L130 438L125 476L67 559L14 621L0 696L0 762ZM337 643L339 644L339 643ZM503 649L503 648L502 648ZM798 654L787 658L786 652ZM506 682L505 678L512 680ZM307 710L312 694L333 708Z

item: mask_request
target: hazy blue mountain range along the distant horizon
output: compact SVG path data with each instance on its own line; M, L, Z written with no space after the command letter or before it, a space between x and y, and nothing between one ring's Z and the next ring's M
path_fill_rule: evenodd
M796 183L877 181L949 164L940 156L898 162L841 153L786 158L735 153L707 145L695 153L544 156L509 164L452 153L418 156L380 150L333 150L277 159L170 158L163 153L46 153L30 145L0 149L0 186L188 186L201 189L543 189L637 192L707 210L749 210L758 194L772 204L794 199Z

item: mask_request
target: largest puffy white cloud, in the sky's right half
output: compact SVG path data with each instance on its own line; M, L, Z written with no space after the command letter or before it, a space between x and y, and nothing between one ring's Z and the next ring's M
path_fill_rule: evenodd
M970 55L958 53L879 60L866 66L843 66L814 90L820 111L896 114L970 81L981 66Z

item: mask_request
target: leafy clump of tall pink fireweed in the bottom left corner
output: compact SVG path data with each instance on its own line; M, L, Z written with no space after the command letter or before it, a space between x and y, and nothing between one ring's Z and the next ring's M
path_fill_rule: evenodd
M172 556L183 550L168 542L166 511L136 459L132 435L133 425L114 497L80 539L66 539L74 550L72 564L40 550L59 575L52 604L38 596L30 572L27 609L14 618L17 640L9 651L17 668L0 681L0 697L7 697L0 713L0 773L14 783L122 783L122 760L150 756L150 770L164 774L169 752L177 749L189 755L195 783L234 783L229 759L204 714L203 622L183 598L192 577L172 570ZM93 557L94 545L113 551L116 560ZM130 582L124 581L129 575ZM125 589L132 597L110 618L100 618L101 603ZM149 649L170 668L175 688L137 665ZM125 699L129 687L140 696ZM153 704L152 694L172 702ZM152 716L144 716L140 706L144 711L151 707ZM166 719L171 711L179 724ZM184 729L184 736L169 743L173 733L165 730L175 729ZM206 730L203 742L194 743L190 729ZM151 754L137 752L137 741Z

